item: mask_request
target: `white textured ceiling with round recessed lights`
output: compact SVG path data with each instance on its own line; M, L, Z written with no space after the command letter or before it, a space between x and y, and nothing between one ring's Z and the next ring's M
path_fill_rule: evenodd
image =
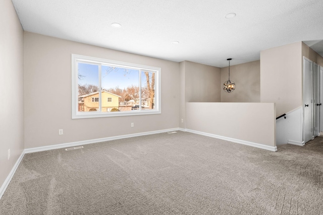
M225 67L227 58L250 62L261 50L298 41L323 56L321 0L12 2L25 31L176 62Z

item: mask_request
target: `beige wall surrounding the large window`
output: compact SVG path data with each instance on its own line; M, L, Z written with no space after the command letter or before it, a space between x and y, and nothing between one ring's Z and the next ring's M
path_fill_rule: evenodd
M161 114L72 119L72 53L160 67ZM177 62L30 32L24 33L24 56L26 149L179 127ZM130 126L132 122L134 127ZM59 135L59 129L64 129L63 135Z

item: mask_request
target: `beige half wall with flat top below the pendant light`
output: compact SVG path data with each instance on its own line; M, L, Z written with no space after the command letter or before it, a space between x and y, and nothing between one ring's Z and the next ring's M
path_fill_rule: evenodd
M274 103L189 102L186 108L187 129L276 147Z

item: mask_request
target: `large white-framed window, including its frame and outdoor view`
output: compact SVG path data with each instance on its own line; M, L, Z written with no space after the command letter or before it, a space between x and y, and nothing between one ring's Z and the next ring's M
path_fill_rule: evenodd
M72 118L160 113L160 68L72 54Z

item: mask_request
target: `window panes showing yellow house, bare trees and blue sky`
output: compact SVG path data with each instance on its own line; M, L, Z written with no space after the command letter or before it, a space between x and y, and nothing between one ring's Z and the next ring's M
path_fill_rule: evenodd
M156 70L86 60L76 68L79 113L156 109Z

